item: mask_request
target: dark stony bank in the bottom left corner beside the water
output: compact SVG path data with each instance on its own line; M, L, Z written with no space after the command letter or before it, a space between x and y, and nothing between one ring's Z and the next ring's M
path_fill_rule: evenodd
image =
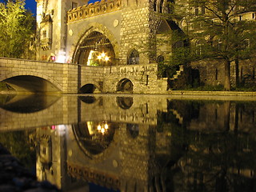
M0 192L55 192L60 191L50 182L38 182L22 163L0 143Z

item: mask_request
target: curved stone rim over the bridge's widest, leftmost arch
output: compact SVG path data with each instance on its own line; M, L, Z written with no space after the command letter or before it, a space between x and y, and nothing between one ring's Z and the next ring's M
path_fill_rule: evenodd
M17 76L34 76L34 77L37 77L37 78L42 78L44 80L46 80L47 82L50 82L52 83L58 90L62 91L62 86L54 80L54 78L51 78L50 76L46 75L46 74L41 74L41 73L38 73L38 72L35 72L35 71L29 71L29 70L26 70L26 71L14 71L14 72L10 72L8 74L5 74L5 75L2 75L0 76L0 82L8 79L8 78L14 78L14 77L17 77Z

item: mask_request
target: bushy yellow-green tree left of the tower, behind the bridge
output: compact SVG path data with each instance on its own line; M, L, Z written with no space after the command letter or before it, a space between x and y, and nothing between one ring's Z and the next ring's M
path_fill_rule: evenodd
M34 33L34 18L26 11L25 0L0 3L0 56L26 58Z

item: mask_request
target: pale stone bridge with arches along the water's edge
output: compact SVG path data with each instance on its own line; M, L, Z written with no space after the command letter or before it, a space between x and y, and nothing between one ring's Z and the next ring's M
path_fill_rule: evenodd
M85 66L0 58L0 82L18 92L162 93L166 79L158 78L157 64Z

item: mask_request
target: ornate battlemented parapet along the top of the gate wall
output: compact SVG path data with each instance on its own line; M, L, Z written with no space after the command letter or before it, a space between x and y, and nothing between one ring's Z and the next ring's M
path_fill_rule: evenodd
M121 9L121 0L102 0L79 6L67 12L67 22L75 22L83 18L90 18L100 14L106 14Z

